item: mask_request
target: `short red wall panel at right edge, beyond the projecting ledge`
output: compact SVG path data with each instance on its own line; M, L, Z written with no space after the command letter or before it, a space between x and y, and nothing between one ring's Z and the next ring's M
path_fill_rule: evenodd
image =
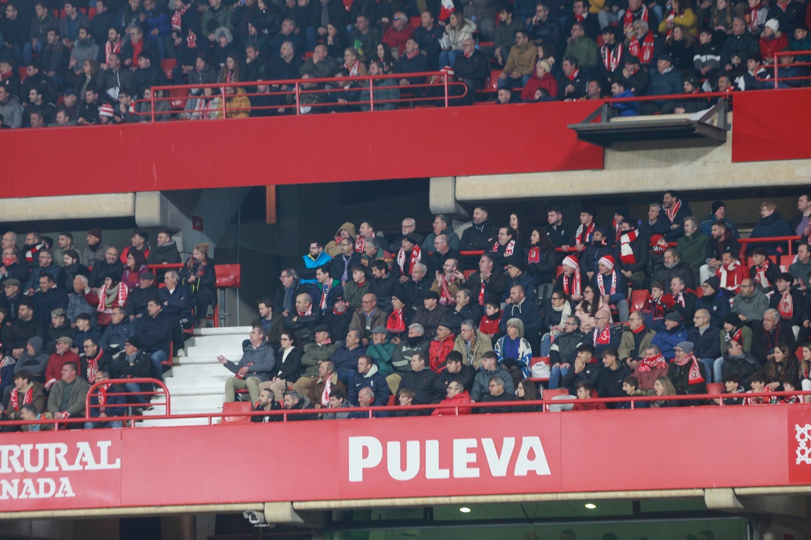
M736 92L732 161L811 159L811 88Z

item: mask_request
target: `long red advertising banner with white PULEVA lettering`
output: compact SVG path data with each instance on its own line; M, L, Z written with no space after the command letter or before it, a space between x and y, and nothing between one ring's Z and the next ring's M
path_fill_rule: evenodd
M769 442L770 459L727 436L740 426ZM811 405L60 431L0 444L5 512L809 483Z

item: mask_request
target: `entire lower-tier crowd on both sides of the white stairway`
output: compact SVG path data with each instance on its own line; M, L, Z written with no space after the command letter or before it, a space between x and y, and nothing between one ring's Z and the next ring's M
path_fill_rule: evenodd
M745 392L811 390L809 195L791 222L763 203L749 235L800 237L796 255L785 241L765 240L745 244L749 257L740 259L726 204L711 210L692 216L667 191L642 219L620 207L603 226L594 208L582 208L580 225L568 229L560 208L545 225L513 213L500 226L477 206L461 237L446 216L425 236L406 217L392 242L371 221L346 222L328 242L311 242L257 302L242 358L218 357L234 374L226 401L247 394L257 409L346 409L322 416L354 418L367 413L353 407L396 396L399 405L437 405L397 415L455 414L457 405L534 401L544 385L564 389L563 399L650 395L662 399L636 406L671 407L701 404L667 396L705 394L712 382L723 383L726 405L803 401ZM161 272L159 289L146 264L180 262L168 231L152 248L136 229L120 253L101 238L91 229L79 254L70 234L49 249L49 238L29 233L19 251L15 234L3 237L4 418L21 418L28 404L42 414L48 392L49 414L84 416L84 397L75 396L99 374L161 379L183 328L205 324L217 298L208 246L195 246L180 272Z

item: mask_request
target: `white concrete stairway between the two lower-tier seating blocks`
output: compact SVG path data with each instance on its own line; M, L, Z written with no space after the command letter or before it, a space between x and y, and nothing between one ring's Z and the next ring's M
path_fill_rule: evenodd
M233 374L220 362L222 354L232 362L242 358L242 341L251 333L250 326L200 328L186 341L186 356L175 357L170 371L164 374L169 388L172 414L214 413L222 410L225 401L225 379ZM208 423L208 418L176 418L150 420L150 416L164 414L164 396L152 398L152 410L144 412L144 421L135 426L197 426ZM214 418L213 422L219 422Z

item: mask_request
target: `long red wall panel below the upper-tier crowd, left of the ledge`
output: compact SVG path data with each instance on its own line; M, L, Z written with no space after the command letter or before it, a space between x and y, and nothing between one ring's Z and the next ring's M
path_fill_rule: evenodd
M2 197L600 169L590 103L4 130ZM84 158L83 156L86 156Z

